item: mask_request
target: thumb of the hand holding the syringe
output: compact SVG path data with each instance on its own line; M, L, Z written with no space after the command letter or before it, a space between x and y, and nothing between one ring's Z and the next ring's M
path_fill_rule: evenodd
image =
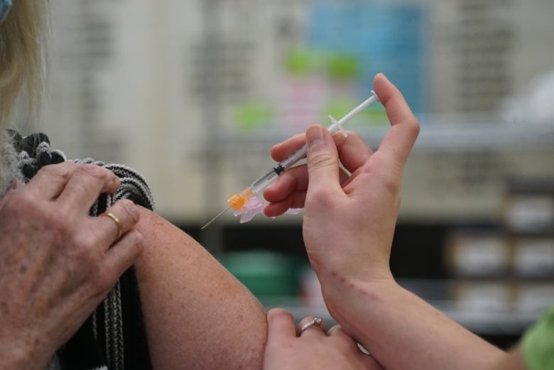
M306 131L308 146L308 191L340 189L339 155L331 134L325 127L313 125Z

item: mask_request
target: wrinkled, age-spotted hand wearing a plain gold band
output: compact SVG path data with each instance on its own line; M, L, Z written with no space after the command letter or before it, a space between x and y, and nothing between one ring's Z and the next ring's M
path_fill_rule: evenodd
M1 198L1 369L43 369L138 259L132 202L108 210L116 219L89 216L100 193L118 187L109 170L66 162Z

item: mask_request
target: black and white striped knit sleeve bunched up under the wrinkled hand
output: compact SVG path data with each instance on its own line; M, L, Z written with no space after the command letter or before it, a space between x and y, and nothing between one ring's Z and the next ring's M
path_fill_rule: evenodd
M21 136L10 132L18 153L18 167L25 181L45 165L62 163L65 154L50 148L45 134ZM143 176L125 165L106 164L91 158L72 160L93 163L112 170L121 180L114 194L102 194L90 210L91 216L105 212L114 202L129 199L153 210L151 190ZM143 325L139 289L134 268L116 283L80 330L58 350L48 370L126 370L151 369Z

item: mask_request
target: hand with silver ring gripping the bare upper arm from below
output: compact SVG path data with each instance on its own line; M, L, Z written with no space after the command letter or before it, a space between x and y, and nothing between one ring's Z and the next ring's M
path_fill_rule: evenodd
M339 326L325 332L313 325L297 337L293 316L274 308L267 315L268 341L264 354L264 370L359 369L382 370L368 354ZM298 327L313 320L306 317Z

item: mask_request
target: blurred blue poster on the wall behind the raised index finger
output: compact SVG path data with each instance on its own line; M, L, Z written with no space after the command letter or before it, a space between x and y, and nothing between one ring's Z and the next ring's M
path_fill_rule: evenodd
M419 4L312 1L308 48L354 56L367 96L376 72L401 89L413 111L426 109L425 9Z

